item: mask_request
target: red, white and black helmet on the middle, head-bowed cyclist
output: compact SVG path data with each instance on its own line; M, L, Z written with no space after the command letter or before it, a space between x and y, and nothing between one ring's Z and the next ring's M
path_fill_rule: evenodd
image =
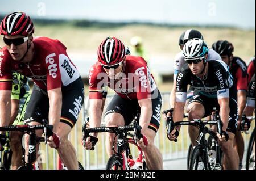
M98 61L102 65L115 65L125 57L125 45L114 36L107 37L98 47Z

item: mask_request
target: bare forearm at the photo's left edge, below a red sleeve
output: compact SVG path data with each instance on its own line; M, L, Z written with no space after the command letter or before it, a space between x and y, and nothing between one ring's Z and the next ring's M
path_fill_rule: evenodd
M11 91L0 91L0 127L7 126L11 117Z

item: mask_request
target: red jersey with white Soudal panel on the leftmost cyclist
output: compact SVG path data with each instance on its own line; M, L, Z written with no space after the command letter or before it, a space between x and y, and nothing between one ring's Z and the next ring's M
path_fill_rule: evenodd
M7 47L0 50L0 90L11 90L12 70L32 78L44 90L67 86L80 77L59 40L35 37L33 43L34 59L26 64L14 61Z

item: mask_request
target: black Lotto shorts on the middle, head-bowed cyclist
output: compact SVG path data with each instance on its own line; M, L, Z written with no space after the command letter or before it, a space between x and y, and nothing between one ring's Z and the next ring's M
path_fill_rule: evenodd
M162 96L159 90L156 91L158 91L158 96L156 96L155 99L151 99L153 114L150 120L150 124L148 125L148 128L154 130L155 132L158 132L158 128L160 125ZM141 107L139 107L137 99L123 99L119 95L115 94L110 103L108 104L104 116L114 112L120 113L125 120L125 125L129 125L131 121L133 121L134 117L141 112Z

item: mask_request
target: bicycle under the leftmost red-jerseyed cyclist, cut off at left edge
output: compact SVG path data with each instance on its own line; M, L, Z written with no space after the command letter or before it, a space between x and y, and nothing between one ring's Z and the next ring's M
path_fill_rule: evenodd
M47 144L47 138L52 136L53 125L48 125L47 120L43 120L43 125L11 125L6 127L0 127L0 131L20 131L24 134L29 134L30 139L28 143L28 162L24 161L24 165L20 166L18 170L33 170L33 163L36 161L36 142L43 142ZM37 137L35 131L38 129L43 129L44 137ZM9 142L5 145L5 148L9 149ZM3 164L5 164L5 169L10 169L11 165L11 155L8 155L6 150L6 155L4 155ZM24 153L23 153L24 155ZM23 157L24 159L24 157Z

